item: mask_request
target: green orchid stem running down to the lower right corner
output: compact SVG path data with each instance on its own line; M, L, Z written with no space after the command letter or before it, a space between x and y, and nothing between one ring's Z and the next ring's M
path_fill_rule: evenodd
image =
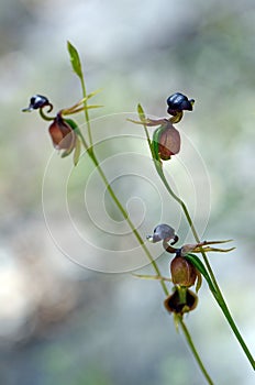
M148 142L148 146L149 146L149 150L151 150L151 153L152 153L152 156L153 156L153 162L154 162L155 168L157 170L157 174L159 175L159 177L160 177L163 184L165 185L167 191L169 193L169 195L181 206L182 211L185 213L185 217L186 217L186 219L187 219L187 221L189 223L189 227L190 227L190 229L192 231L193 238L195 238L197 243L200 243L197 230L196 230L196 228L193 226L192 219L191 219L191 217L189 215L189 211L188 211L185 202L173 191L173 189L170 188L170 186L169 186L169 184L168 184L168 182L167 182L167 179L165 177L165 174L164 174L164 170L163 170L163 167L162 167L162 162L159 160L157 160L156 154L154 153L154 148L153 148L153 145L152 145L152 142L151 142L151 139L149 139L149 134L148 134L148 131L147 131L147 128L146 128L145 124L144 124L144 130L145 130L146 139L147 139L147 142ZM241 346L242 346L246 358L248 359L250 363L252 364L253 370L255 370L255 361L253 359L253 355L251 354L246 343L244 342L244 340L243 340L243 338L242 338L242 336L241 336L241 333L240 333L240 331L239 331L239 329L237 329L237 327L236 327L236 324L235 324L235 322L233 320L233 317L231 316L231 312L230 312L230 310L229 310L229 308L226 306L226 302L225 302L224 297L223 297L223 295L221 293L221 289L220 289L220 287L219 287L219 285L217 283L217 278L215 278L215 276L213 274L213 271L212 271L212 268L210 266L210 263L209 263L209 260L207 257L207 254L204 253L202 248L200 249L200 251L201 251L204 264L207 266L208 273L210 275L211 282L213 284L214 290L210 286L209 286L209 288L210 288L213 297L215 298L218 305L222 309L222 311L223 311L223 314L224 314L224 316L225 316L225 318L226 318L226 320L228 320L232 331L234 332L234 334L235 334L237 341L240 342L240 344L241 344Z

